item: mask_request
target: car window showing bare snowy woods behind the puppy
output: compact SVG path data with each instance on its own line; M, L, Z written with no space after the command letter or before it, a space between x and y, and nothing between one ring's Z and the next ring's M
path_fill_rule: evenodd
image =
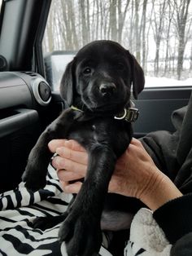
M142 65L147 86L192 86L190 0L53 0L43 39L57 89L81 46L120 42Z

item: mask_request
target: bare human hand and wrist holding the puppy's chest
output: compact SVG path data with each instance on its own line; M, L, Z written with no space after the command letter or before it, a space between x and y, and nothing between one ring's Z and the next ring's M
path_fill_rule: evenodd
M49 148L50 151L59 155L54 158L52 164L58 170L64 192L78 193L82 183L69 182L85 177L87 152L74 140L52 140ZM181 192L155 166L142 143L137 139L132 139L129 148L116 162L116 169L111 177L108 191L136 197L151 210L181 196Z

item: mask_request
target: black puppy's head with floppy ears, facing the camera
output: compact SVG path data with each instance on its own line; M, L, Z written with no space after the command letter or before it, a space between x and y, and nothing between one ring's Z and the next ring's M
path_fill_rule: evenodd
M84 46L70 62L61 81L61 95L69 105L90 111L116 112L129 105L144 87L137 60L117 42L95 41Z

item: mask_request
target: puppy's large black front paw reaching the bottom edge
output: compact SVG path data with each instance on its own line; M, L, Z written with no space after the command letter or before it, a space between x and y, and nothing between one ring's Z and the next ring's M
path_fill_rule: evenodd
M102 244L100 220L72 210L59 229L59 241L65 241L68 256L96 256Z

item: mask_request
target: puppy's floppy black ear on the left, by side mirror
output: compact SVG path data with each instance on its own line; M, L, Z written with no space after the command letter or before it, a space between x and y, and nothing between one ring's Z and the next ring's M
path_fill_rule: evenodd
M76 87L76 77L75 77L75 67L76 58L74 58L66 67L65 72L60 83L60 93L68 103L69 106L72 105L74 90Z

